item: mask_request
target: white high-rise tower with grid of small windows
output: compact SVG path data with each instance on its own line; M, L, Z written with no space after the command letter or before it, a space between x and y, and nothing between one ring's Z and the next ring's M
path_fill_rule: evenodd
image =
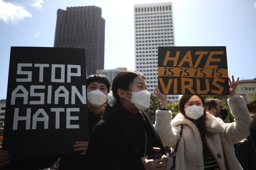
M146 75L148 91L158 83L158 46L175 46L172 2L134 5L135 68ZM167 95L179 101L179 95Z

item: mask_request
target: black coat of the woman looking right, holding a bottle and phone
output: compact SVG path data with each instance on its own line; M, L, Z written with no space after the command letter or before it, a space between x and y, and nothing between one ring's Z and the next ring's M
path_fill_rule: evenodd
M145 152L145 131L147 134L146 156L152 147L161 148L162 142L147 114L131 113L117 103L105 113L105 117L92 130L84 164L89 169L144 169L140 158Z

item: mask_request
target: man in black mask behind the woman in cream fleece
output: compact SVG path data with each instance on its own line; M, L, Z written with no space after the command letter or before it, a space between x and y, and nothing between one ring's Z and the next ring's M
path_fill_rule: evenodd
M219 99L206 99L205 106L206 109L215 117L225 120L228 116L228 110L222 107Z

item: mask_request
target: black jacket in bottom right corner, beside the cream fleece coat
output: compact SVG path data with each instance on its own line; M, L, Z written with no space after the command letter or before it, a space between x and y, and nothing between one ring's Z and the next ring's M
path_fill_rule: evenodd
M256 153L250 136L234 144L236 158L244 170L256 169Z

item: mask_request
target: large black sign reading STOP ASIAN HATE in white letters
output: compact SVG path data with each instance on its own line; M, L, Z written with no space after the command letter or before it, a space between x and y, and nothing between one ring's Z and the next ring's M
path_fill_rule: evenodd
M9 159L76 153L73 145L88 133L85 50L11 47L3 137Z

